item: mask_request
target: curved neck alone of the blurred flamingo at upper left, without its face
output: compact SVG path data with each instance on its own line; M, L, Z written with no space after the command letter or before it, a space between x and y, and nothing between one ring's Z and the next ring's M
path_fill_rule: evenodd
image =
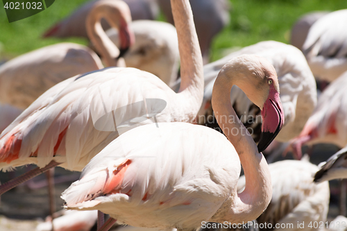
M108 22L111 22L107 10L95 9L90 12L90 15L87 17L86 28L87 34L92 44L95 46L96 51L98 51L105 62L105 65L108 67L117 67L118 66L118 56L119 49L117 46L110 40L106 35L105 31L101 26L101 19L105 18ZM110 23L114 25L115 23ZM117 26L119 28L119 26Z

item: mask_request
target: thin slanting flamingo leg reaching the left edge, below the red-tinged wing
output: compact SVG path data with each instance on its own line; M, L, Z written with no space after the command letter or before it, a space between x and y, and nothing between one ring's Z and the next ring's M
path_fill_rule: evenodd
M8 191L10 189L13 189L17 185L20 185L23 182L26 182L27 180L34 178L35 176L39 176L41 173L44 173L44 172L48 171L49 169L51 169L55 166L58 166L59 164L61 164L61 163L57 163L54 160L52 160L51 162L49 162L49 164L47 164L42 169L37 167L31 171L28 171L27 173L24 173L22 176L18 176L17 178L6 182L5 184L0 186L0 195L6 193L6 191Z

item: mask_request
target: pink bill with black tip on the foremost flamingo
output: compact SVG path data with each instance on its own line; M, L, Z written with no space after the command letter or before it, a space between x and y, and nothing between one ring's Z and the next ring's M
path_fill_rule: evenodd
M264 151L275 139L285 123L280 94L275 89L270 89L269 98L264 103L262 110L262 134L258 143L258 151Z

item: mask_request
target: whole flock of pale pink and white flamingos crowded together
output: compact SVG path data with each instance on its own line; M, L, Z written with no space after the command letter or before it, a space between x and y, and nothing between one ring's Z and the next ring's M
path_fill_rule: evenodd
M171 24L153 21L160 9ZM328 180L347 178L347 10L304 15L294 46L264 41L208 63L228 11L227 0L90 1L44 34L89 47L54 44L1 65L0 169L37 168L0 195L61 166L82 171L65 209L91 211L38 230L90 230L96 217L100 231L254 220L321 230ZM262 154L301 159L320 143L342 149L319 166Z

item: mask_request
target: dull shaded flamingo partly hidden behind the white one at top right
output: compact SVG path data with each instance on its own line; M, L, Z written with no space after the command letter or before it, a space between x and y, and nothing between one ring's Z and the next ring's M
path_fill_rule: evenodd
M328 11L314 11L308 12L300 17L300 19L298 19L294 24L293 28L291 28L290 44L298 49L302 49L311 26L314 22L328 13Z

